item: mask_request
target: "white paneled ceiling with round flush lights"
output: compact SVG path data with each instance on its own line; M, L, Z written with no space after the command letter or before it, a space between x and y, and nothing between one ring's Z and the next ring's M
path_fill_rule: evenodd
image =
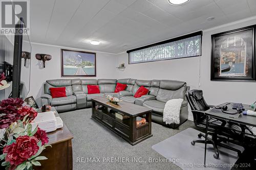
M81 1L56 0L54 10L54 0L30 1L31 40L120 53L256 15L256 0L191 0L182 6L167 0L83 0L78 7ZM215 19L207 21L209 16ZM90 45L91 39L102 43Z

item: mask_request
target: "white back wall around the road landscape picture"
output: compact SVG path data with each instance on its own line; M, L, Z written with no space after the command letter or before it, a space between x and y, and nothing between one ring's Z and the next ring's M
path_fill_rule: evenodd
M61 79L60 49L87 51L76 48L52 46L46 44L32 43L31 54L31 84L29 95L33 95L37 103L40 104L40 95L44 93L43 84L46 80ZM35 54L49 54L50 61L46 61L46 67L42 68L42 63L35 58ZM96 74L97 77L75 77L81 79L114 79L116 78L116 55L96 52Z

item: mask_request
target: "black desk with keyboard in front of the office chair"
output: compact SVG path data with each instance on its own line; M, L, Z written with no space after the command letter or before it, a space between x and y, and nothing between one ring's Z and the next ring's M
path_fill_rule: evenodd
M224 106L227 103L230 103L230 102L226 102L226 103L223 103L223 104L218 105L218 106ZM230 112L230 113L236 112L236 110L232 109L232 103L230 103L227 106L228 106L227 112ZM245 110L251 109L249 105L243 104L243 106L244 106ZM208 136L209 116L224 119L224 120L227 120L227 121L233 122L233 123L239 123L239 124L243 124L243 125L246 125L246 126L256 127L256 116L249 116L249 115L241 114L238 118L233 118L232 115L223 113L221 111L221 109L216 109L215 107L205 111L205 115L206 115L206 132L205 132L205 145L204 145L204 165L205 165L205 162L206 162L206 145L207 145L207 136Z

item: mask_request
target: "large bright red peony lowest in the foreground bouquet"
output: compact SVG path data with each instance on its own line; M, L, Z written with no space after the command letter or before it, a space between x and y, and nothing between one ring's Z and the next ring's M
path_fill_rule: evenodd
M16 142L5 146L3 152L7 153L5 160L11 165L19 165L39 150L38 139L34 136L19 136Z

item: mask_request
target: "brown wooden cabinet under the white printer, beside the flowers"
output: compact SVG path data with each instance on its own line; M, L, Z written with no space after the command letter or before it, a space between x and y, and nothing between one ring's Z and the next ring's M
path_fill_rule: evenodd
M51 111L56 111L52 107ZM58 117L58 113L55 113ZM73 155L72 155L72 138L67 126L63 123L63 127L54 132L47 133L51 147L47 147L40 156L46 156L47 160L40 160L41 166L33 166L34 169L51 169L63 170L73 169Z

